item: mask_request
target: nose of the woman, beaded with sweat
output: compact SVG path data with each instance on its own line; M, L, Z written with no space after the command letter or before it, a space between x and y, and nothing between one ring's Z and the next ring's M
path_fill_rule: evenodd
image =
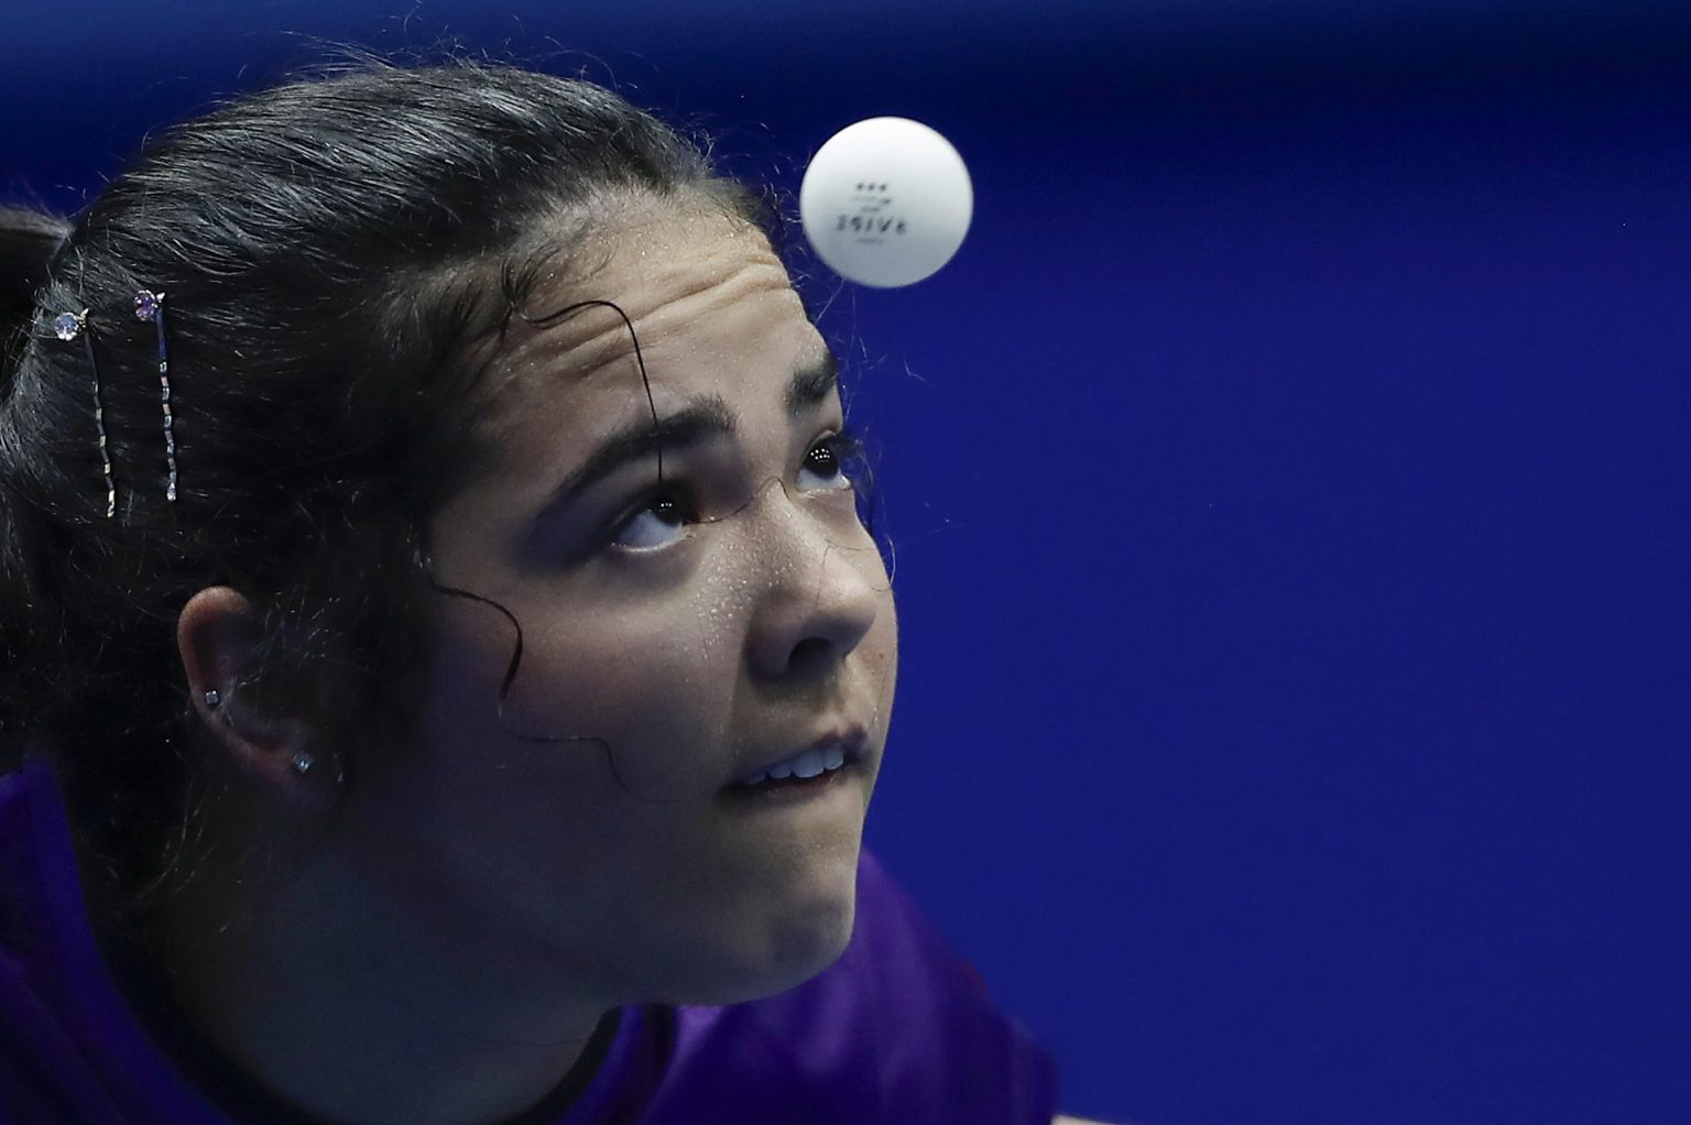
M751 667L771 680L825 677L874 626L884 595L881 557L861 528L842 536L780 491L769 499L780 526L752 548L768 587L751 619Z

